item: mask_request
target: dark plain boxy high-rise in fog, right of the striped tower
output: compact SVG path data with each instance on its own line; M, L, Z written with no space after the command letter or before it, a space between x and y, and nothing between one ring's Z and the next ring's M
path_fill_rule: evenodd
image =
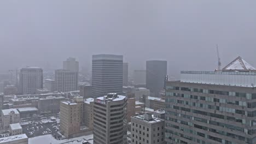
M167 75L167 61L147 61L146 87L154 97L164 89L165 76Z

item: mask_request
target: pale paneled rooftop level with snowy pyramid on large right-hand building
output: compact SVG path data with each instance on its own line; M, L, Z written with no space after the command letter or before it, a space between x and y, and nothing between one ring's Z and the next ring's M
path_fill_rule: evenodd
M181 82L255 87L256 69L241 57L237 57L222 70L181 71Z

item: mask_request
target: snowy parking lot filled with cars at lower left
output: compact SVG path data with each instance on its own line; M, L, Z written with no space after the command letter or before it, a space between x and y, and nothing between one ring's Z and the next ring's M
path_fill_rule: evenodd
M62 139L63 136L59 132L59 124L56 121L38 121L22 125L23 133L28 137L51 134L55 139Z

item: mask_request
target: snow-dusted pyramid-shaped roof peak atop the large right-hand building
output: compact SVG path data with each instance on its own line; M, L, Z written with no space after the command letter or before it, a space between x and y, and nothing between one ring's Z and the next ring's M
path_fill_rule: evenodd
M222 70L256 70L251 64L245 61L245 59L238 56L234 61L226 65Z

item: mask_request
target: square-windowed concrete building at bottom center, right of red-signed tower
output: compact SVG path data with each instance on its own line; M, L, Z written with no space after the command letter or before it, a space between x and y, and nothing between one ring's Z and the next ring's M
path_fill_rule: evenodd
M131 118L131 144L165 143L165 121L152 117L152 113Z

